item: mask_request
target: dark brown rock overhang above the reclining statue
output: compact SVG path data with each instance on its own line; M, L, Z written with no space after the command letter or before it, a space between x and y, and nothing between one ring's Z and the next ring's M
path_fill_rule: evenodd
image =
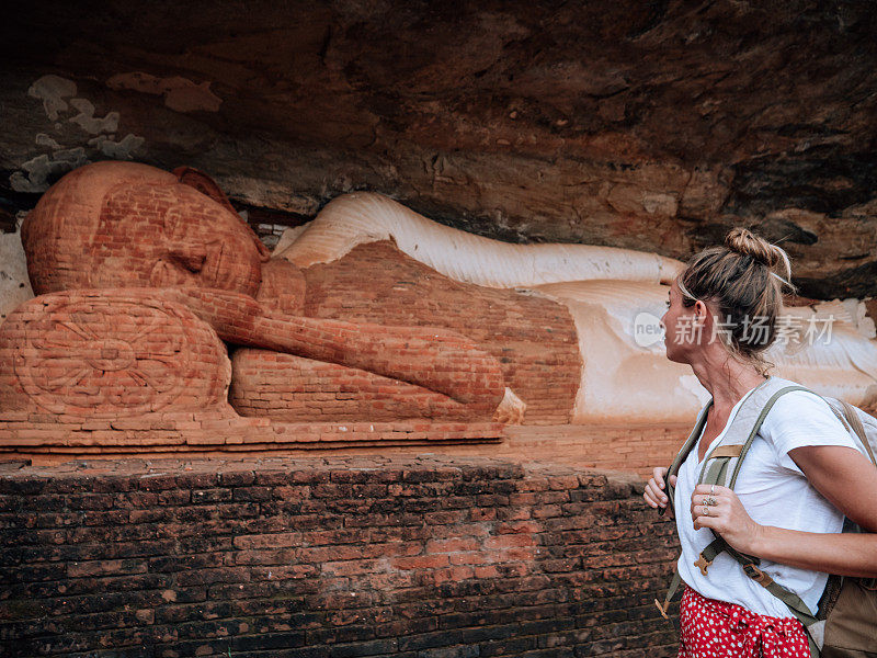
M0 27L0 220L133 159L210 173L266 242L374 190L683 259L743 224L802 294L873 296L876 29L842 1L43 2Z

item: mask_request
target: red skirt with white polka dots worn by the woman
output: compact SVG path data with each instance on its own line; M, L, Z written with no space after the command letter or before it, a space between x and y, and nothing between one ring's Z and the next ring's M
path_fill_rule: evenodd
M680 624L679 658L810 658L798 620L758 615L690 587L682 594Z

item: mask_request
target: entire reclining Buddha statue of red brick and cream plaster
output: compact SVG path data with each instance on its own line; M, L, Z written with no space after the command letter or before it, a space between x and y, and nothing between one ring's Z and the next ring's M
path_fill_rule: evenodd
M271 254L206 175L130 162L65 175L22 239L37 297L0 325L3 410L546 424L687 421L703 401L635 340L681 264L656 254L505 245L373 193ZM772 359L867 402L874 341L856 318L833 336Z

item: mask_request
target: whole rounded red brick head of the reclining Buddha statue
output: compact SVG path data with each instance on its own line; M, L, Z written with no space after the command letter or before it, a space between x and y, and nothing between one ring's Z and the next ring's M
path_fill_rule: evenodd
M254 296L269 258L206 175L133 162L68 173L30 213L22 241L36 294L186 286Z

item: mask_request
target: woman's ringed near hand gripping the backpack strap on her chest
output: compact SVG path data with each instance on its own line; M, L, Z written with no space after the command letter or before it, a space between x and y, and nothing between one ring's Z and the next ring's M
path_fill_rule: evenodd
M731 489L697 485L692 494L694 529L708 527L740 553L755 554L764 526L755 523Z

